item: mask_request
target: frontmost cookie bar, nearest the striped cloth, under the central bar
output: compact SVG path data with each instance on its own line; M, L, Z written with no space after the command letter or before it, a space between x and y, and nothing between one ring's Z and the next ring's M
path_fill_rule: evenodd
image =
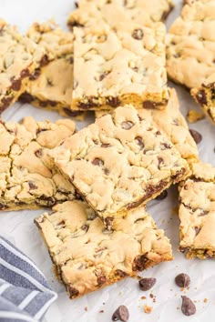
M71 299L172 259L169 239L144 207L116 220L111 231L77 200L54 206L35 222Z

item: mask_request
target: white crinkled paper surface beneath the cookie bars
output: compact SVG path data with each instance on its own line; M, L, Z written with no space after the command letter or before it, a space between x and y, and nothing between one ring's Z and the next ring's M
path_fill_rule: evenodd
M176 8L169 17L168 25L179 15L180 1L175 0ZM43 21L52 16L56 22L66 28L67 15L74 8L72 0L0 0L0 15L9 23L19 27L21 32L36 20ZM174 86L174 85L170 85ZM189 93L183 88L175 86L179 94L181 110L184 115L190 108L198 109ZM49 118L55 121L59 116L52 112L42 112L33 106L15 104L5 111L4 120L19 121L23 116L34 116L37 120ZM87 123L90 119L87 120ZM86 123L85 123L86 124ZM77 124L78 128L85 124ZM201 120L190 128L197 129L203 136L200 143L200 158L215 166L215 126L211 126L207 119ZM172 209L177 206L176 188L169 189L169 196L161 202L152 202L148 212L156 219L158 226L165 229L169 236L175 259L158 267L149 269L143 274L145 277L156 277L157 284L148 292L141 292L138 283L133 279L126 279L116 285L97 291L86 297L70 301L64 287L53 276L51 261L41 236L33 224L33 219L42 211L19 211L1 213L0 234L7 237L31 257L36 265L44 272L50 285L58 293L56 303L50 307L46 314L46 322L108 322L115 308L121 304L128 306L129 321L138 322L207 322L214 321L215 312L215 262L213 260L186 260L177 251L179 245L179 219ZM187 273L191 277L191 286L186 291L187 296L197 301L197 313L192 317L182 315L180 309L181 291L174 284L174 277L178 273ZM149 293L156 296L156 303L152 303ZM146 296L146 300L140 297ZM204 303L204 298L208 299ZM143 305L153 307L150 314L143 311ZM87 311L85 310L87 307ZM104 313L99 313L104 310Z

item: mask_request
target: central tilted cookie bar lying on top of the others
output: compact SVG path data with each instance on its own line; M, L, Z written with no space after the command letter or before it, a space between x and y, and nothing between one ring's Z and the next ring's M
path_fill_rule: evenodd
M133 106L97 118L50 156L108 228L189 174L175 146Z

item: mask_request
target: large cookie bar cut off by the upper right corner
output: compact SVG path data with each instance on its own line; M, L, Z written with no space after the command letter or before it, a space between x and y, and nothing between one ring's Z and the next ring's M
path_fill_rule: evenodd
M168 74L191 89L191 95L215 122L215 2L187 0L186 4L169 29Z

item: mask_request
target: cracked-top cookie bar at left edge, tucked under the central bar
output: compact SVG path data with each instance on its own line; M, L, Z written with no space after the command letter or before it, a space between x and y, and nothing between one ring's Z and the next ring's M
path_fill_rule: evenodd
M74 187L52 168L47 152L75 131L71 120L0 123L0 209L34 209L72 200Z

